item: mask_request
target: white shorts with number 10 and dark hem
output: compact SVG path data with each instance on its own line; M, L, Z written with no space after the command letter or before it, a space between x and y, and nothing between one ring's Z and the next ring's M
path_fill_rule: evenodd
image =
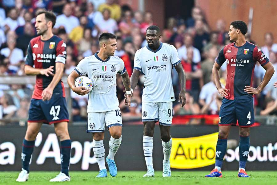
M86 132L105 132L112 126L122 126L122 117L120 109L100 113L87 113Z

